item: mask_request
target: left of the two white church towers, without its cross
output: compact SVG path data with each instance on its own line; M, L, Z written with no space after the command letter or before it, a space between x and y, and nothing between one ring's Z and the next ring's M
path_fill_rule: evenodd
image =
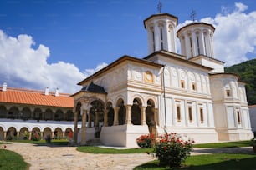
M177 17L168 13L151 15L144 20L149 53L160 50L176 53Z

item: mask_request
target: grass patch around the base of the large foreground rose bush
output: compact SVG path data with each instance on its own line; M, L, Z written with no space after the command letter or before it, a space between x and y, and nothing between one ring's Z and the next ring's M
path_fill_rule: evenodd
M167 170L167 169L189 169L189 170L214 170L214 169L255 169L256 155L248 154L209 154L188 157L181 168L168 168L159 166L159 161L151 161L134 168L134 170Z

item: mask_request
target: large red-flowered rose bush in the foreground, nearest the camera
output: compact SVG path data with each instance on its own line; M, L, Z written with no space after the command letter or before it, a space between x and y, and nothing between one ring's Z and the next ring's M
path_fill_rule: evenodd
M177 133L166 133L160 137L154 151L161 165L179 167L192 151L193 140L184 140Z

